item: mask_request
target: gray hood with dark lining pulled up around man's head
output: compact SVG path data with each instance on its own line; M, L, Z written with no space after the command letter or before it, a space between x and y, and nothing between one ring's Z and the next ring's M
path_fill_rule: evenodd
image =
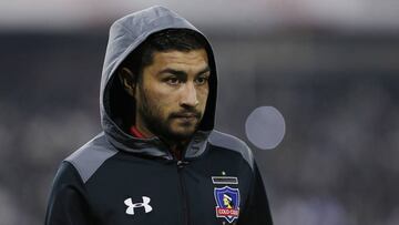
M187 20L164 7L152 7L116 20L110 29L100 89L101 123L105 136L117 149L152 156L171 158L167 147L157 137L136 139L129 134L134 117L134 104L123 91L120 82L115 79L115 71L149 35L165 29L191 29L202 34ZM205 35L202 34L206 40ZM201 122L200 130L194 135L186 157L198 156L205 147L206 139L214 129L217 76L214 54L211 44L206 47L208 64L212 71L209 78L209 95Z

